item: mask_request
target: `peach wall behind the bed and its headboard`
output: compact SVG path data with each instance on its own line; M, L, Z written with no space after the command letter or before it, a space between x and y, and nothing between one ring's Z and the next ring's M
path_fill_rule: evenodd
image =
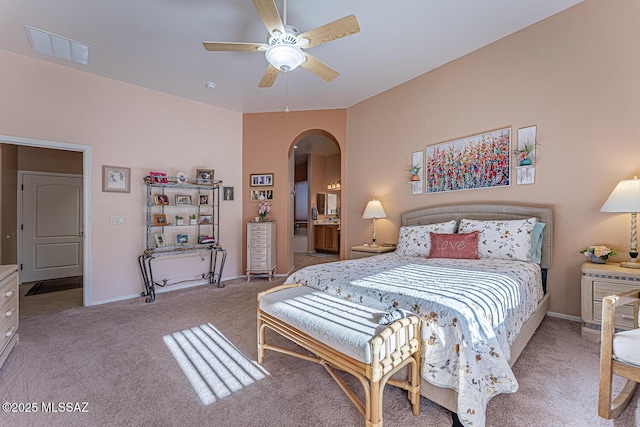
M619 180L640 176L638 16L638 1L588 0L350 108L347 245L370 237L360 217L372 197L388 215L377 222L380 241L396 241L400 214L423 206L550 206L551 311L580 316L578 252L608 243L624 259L629 248L630 216L599 210ZM541 144L534 185L411 195L405 169L413 151L530 125Z

